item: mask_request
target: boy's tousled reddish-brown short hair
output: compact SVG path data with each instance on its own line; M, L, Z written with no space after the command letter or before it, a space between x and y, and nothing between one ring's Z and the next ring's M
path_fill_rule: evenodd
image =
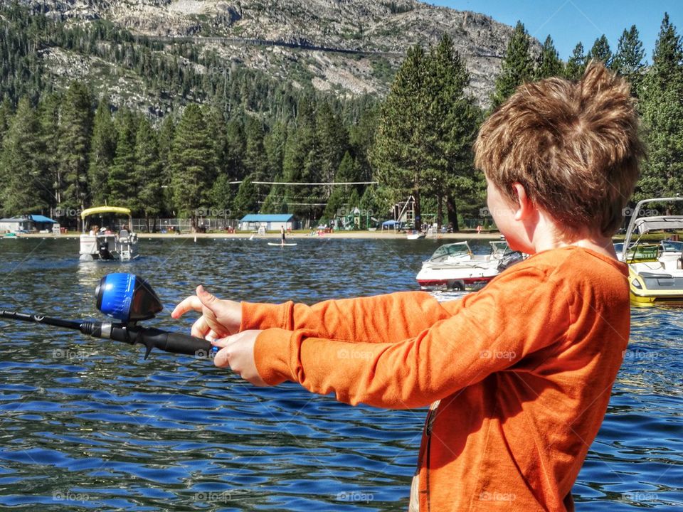
M578 82L527 83L485 122L475 165L517 201L512 184L564 233L615 233L645 149L628 83L591 62Z

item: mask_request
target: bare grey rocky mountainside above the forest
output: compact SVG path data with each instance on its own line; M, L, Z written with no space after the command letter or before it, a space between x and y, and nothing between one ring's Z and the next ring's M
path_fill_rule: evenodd
M144 37L148 46L153 45L154 58L167 54L175 65L198 75L227 77L246 68L295 89L311 85L342 98L385 95L408 47L428 46L448 32L467 63L472 95L480 105L488 105L512 34L512 27L489 16L415 0L22 0L20 4L68 28L87 31L94 23L112 23ZM177 50L179 45L183 52ZM150 93L149 77L125 70L120 62L54 44L40 55L48 80L57 88L82 78L96 93L111 95L115 104L138 108L148 104L150 110L163 112L173 102Z

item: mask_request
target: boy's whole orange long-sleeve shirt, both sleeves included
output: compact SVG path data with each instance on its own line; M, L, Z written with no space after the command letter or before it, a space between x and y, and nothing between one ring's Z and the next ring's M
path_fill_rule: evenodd
M541 252L480 292L243 303L261 377L377 407L432 404L413 481L420 511L573 510L628 342L625 265ZM411 506L411 510L414 506Z

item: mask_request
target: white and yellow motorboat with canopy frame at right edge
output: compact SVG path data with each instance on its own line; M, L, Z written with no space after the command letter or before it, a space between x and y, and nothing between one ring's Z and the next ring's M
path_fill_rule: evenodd
M624 242L615 244L615 250L619 260L628 265L632 304L683 306L683 242L678 240L683 231L683 215L659 215L654 208L646 210L652 203L666 205L667 211L674 211L674 205L681 210L683 198L645 199L637 203Z

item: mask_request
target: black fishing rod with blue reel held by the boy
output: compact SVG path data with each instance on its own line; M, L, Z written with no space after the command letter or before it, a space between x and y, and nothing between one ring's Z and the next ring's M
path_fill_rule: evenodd
M139 321L153 319L164 309L152 287L141 277L124 273L107 274L100 279L100 284L95 289L95 299L97 309L120 321L63 320L4 309L0 309L0 317L74 329L95 338L112 339L131 345L140 343L147 349L145 359L152 348L198 357L211 357L218 351L218 347L212 346L203 338L139 326Z

